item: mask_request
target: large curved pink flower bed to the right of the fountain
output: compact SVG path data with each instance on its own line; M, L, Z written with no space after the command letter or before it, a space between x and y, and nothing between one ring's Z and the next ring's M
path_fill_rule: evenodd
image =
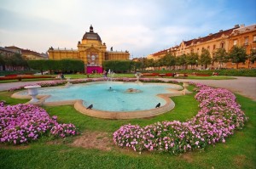
M195 99L201 102L195 117L185 122L160 121L146 127L128 124L113 133L114 144L139 152L146 149L179 154L204 149L207 144L225 143L225 138L244 126L247 117L233 93L191 84L199 88Z

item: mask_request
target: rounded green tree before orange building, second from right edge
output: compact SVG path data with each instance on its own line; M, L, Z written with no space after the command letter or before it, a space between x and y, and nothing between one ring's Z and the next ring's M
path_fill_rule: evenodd
M230 50L230 61L236 63L236 69L238 69L239 63L244 63L247 60L247 52L245 48L234 46Z

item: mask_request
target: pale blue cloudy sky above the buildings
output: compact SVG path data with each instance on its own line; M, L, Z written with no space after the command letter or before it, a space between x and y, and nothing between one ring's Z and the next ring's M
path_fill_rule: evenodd
M145 57L234 25L256 24L256 0L0 0L0 47L77 49L90 25L107 50Z

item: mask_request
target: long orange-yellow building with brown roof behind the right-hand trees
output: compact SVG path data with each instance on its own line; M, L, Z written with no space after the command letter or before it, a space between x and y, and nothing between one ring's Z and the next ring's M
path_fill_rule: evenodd
M246 48L247 54L251 54L256 49L256 25L235 25L229 30L220 30L217 33L210 33L207 37L198 37L189 41L183 41L180 45L162 50L160 52L148 55L148 59L160 59L166 54L181 56L183 54L196 53L201 55L203 48L207 49L211 57L218 48L224 48L227 52L234 46ZM219 63L210 66L212 69L220 67ZM224 68L236 68L236 64L228 62L223 65ZM256 63L239 64L239 68L256 68Z

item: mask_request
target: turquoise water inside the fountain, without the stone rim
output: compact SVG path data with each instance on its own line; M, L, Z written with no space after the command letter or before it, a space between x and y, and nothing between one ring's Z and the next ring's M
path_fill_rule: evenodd
M177 85L166 83L90 82L70 87L40 88L38 93L50 95L45 103L82 99L84 107L93 104L94 110L124 112L152 110L158 103L163 106L166 99L158 97L157 94L172 93L168 89L174 88ZM129 92L131 89L137 92ZM20 94L27 93L23 91Z

